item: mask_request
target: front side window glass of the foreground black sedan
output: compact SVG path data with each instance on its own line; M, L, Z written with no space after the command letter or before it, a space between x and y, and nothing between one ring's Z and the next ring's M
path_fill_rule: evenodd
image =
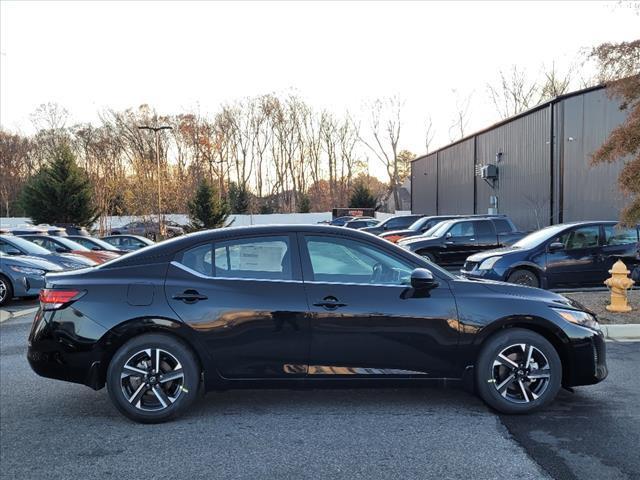
M406 285L413 266L363 242L305 237L313 280L332 283Z

